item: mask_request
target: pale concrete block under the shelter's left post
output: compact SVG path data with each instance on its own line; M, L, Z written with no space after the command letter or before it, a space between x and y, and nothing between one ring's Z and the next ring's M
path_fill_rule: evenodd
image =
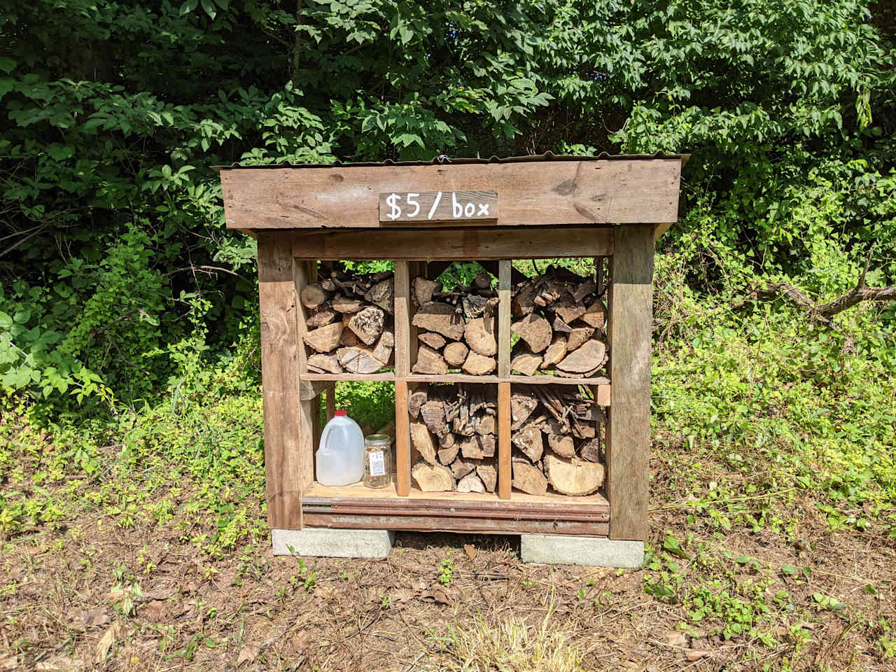
M275 556L371 557L389 556L395 533L387 530L271 530Z

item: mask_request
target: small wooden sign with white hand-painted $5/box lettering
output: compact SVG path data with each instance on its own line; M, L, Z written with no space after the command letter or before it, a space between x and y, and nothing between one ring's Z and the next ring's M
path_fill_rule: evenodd
M498 194L490 190L380 194L380 221L497 220Z

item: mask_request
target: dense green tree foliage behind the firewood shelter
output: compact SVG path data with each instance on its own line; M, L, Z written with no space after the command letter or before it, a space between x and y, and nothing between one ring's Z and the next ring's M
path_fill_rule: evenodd
M691 152L676 282L828 297L868 254L896 281L892 25L861 0L4 5L7 394L133 403L251 360L233 161Z

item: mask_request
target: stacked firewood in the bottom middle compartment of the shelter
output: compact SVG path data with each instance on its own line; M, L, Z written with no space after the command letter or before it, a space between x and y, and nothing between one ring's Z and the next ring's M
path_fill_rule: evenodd
M424 492L495 492L498 480L495 387L420 385L409 395L410 470Z

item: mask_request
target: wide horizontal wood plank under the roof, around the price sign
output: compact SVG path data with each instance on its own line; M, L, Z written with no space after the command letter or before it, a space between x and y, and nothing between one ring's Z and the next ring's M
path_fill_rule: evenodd
M681 159L222 168L220 177L228 228L388 227L379 194L481 187L501 194L498 224L652 224L677 219Z

